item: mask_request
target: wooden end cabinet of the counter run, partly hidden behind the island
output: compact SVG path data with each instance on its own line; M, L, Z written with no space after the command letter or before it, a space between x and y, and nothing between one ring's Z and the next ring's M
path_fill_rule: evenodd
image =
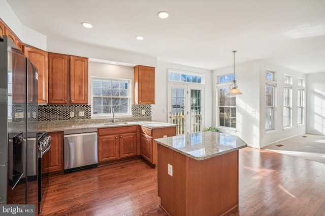
M154 167L158 167L157 161L157 143L154 139L163 138L164 136L176 136L176 126L163 128L147 128L141 126L140 135L140 153Z

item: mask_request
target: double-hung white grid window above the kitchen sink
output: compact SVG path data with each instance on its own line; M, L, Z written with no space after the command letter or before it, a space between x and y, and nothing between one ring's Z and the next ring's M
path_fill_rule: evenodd
M131 115L131 80L91 77L91 116Z

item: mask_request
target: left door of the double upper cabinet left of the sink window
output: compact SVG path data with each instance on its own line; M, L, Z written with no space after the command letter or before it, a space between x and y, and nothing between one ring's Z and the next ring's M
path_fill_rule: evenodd
M69 56L49 53L49 104L69 104Z

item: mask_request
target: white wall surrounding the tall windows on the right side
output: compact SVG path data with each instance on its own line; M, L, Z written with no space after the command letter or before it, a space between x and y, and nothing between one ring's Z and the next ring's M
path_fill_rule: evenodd
M275 72L275 80L277 82L276 88L276 123L275 130L272 133L265 132L265 71L270 70ZM260 61L259 67L260 74L260 95L259 100L261 101L260 106L260 138L259 147L263 148L272 143L284 140L297 135L303 135L306 133L306 124L297 125L297 91L298 91L298 78L306 80L306 74L290 70L278 65L268 63L266 61ZM293 79L292 91L293 91L293 101L292 101L292 128L283 129L283 76L284 74L290 75ZM306 107L306 106L305 106Z

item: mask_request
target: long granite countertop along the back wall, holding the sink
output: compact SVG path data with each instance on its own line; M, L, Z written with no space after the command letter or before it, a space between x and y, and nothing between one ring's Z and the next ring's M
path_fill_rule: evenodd
M176 126L176 124L160 121L117 121L111 122L112 119L87 119L87 120L62 120L62 121L39 121L28 123L28 130L31 132L60 132L82 129L96 129L104 127L119 127L141 125L150 129ZM12 122L9 125L9 132L20 131L24 127L21 122Z

